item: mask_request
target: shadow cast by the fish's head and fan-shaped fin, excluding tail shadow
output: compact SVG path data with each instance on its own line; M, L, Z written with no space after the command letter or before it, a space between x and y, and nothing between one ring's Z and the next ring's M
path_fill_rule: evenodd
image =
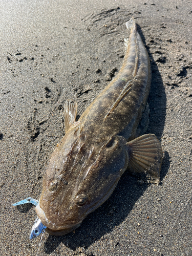
M169 155L165 151L159 185L162 184L169 165ZM104 239L103 236L106 233L113 231L116 226L119 226L127 218L137 200L151 185L146 183L138 184L137 181L138 177L125 172L110 198L83 220L79 228L66 236L55 237L50 235L47 238L44 243L45 253L51 254L55 249L58 251L61 243L74 251L81 247L80 250L83 253L97 240ZM90 255L93 256L93 254Z

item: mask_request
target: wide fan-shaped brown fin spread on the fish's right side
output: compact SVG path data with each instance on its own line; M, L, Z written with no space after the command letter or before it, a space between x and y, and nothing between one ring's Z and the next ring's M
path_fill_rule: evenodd
M148 173L155 179L160 177L162 148L154 134L144 134L126 143L129 153L128 168L133 173Z

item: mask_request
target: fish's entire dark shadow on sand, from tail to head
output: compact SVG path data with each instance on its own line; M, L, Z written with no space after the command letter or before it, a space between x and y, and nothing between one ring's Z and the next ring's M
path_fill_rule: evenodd
M138 25L137 28L144 45L146 46L141 28ZM153 133L160 140L165 124L166 94L158 67L150 53L149 47L146 46L146 48L151 59L152 67L152 84L150 95L148 97L148 104L150 105L150 122L146 133ZM159 185L162 184L162 181L168 172L169 165L169 154L165 151ZM149 185L146 183L140 185L137 181L137 177L130 175L129 172L125 172L110 198L83 220L79 228L66 236L49 236L47 238L44 243L45 253L51 254L56 248L59 250L58 247L61 243L72 250L81 247L81 252L84 253L95 241L104 239L104 234L110 233L116 226L120 225L126 219L137 200L143 195Z

